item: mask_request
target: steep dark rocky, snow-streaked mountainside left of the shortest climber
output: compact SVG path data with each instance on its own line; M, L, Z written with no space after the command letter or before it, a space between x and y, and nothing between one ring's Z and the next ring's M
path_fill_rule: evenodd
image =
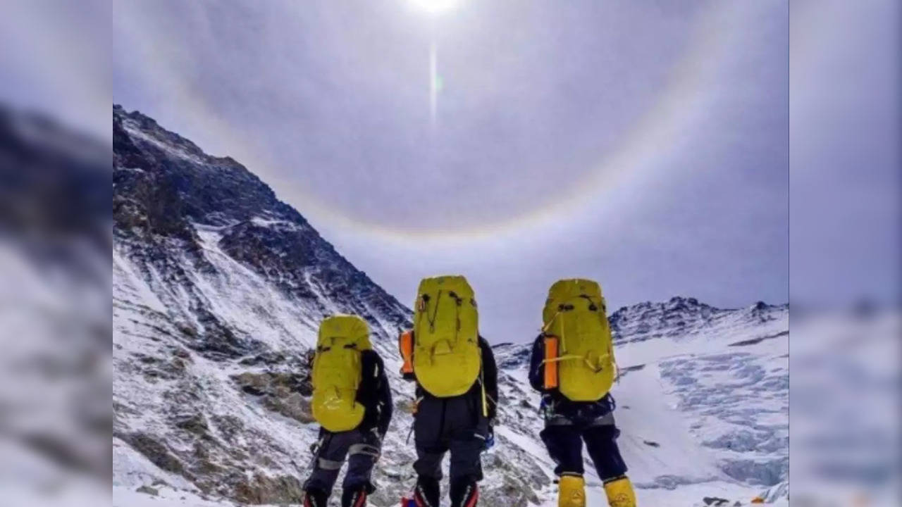
M115 106L114 461L241 502L299 502L318 322L366 318L390 354L409 310L272 189Z

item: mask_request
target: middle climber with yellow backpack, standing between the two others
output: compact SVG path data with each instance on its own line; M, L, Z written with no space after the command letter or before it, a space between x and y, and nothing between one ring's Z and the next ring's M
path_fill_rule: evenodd
M420 281L413 323L400 336L401 374L417 383L417 484L404 502L438 507L441 463L450 451L451 506L474 507L483 479L480 455L493 438L498 370L492 347L479 336L470 284L463 276Z

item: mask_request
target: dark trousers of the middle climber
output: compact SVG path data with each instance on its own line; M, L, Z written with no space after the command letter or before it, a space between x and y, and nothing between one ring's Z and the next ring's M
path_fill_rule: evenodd
M442 459L450 451L452 483L481 481L480 456L488 429L478 396L467 393L453 398L425 397L419 401L413 423L417 447L414 470L421 478L440 480Z

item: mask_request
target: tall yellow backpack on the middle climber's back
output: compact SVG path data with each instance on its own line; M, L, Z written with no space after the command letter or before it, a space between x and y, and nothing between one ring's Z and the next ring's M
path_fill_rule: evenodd
M413 371L423 389L439 398L469 391L482 368L479 314L463 276L419 282L413 316Z

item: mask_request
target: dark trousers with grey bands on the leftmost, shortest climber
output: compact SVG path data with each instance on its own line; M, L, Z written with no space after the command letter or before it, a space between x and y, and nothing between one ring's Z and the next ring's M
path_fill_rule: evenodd
M321 442L313 472L304 484L305 490L331 493L347 456L347 473L342 488L355 490L365 487L368 493L373 492L370 478L380 450L372 433L364 434L357 429L324 432Z

